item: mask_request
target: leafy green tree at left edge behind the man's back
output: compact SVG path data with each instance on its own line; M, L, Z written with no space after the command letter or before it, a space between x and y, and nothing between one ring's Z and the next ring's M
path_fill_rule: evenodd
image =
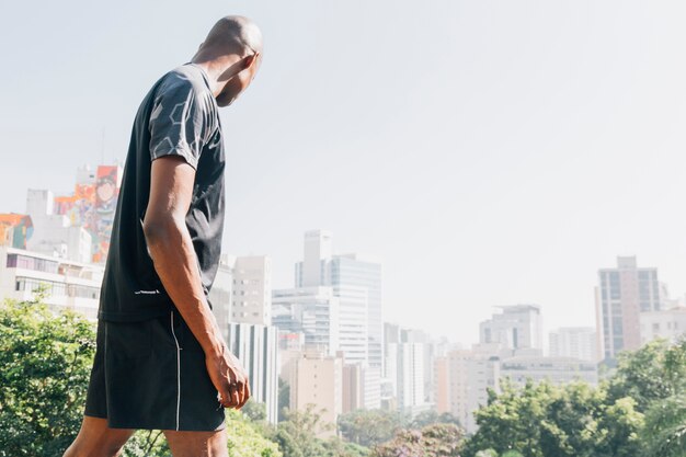
M0 308L0 456L55 456L81 425L93 325L35 301Z

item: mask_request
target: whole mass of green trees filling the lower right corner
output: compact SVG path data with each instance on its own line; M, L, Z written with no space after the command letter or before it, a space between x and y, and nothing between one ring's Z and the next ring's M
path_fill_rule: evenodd
M502 384L477 413L464 455L524 457L686 456L686 341L655 341L619 358L598 388Z

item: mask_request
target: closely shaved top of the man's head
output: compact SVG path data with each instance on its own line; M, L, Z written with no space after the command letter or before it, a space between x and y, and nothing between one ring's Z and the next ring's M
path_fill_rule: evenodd
M211 27L197 54L208 59L227 54L241 57L262 54L262 33L250 19L228 15Z

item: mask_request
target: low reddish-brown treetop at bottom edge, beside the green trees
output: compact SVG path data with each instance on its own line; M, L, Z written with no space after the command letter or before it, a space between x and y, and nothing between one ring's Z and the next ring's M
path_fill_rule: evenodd
M375 446L371 457L459 457L462 436L462 431L455 424L401 430L390 442Z

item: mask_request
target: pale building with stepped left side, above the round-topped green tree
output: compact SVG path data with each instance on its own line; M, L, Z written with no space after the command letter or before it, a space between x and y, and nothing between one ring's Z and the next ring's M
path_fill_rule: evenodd
M479 325L481 344L499 343L510 350L542 351L542 318L538 305L514 305L501 307Z

